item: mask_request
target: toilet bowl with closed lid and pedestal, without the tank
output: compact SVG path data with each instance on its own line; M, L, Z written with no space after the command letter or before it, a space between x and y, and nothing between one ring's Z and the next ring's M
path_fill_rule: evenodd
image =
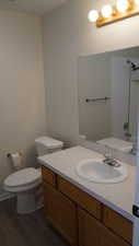
M42 184L40 169L33 167L24 168L11 174L5 178L3 187L7 191L16 194L18 213L31 213L39 209L38 199L36 199L37 190Z

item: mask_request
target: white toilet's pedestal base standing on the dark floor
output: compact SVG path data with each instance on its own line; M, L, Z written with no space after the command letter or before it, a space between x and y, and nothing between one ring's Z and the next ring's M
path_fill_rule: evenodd
M43 196L38 195L37 187L24 192L16 194L16 211L20 214L32 213L43 207ZM37 196L38 195L38 196Z

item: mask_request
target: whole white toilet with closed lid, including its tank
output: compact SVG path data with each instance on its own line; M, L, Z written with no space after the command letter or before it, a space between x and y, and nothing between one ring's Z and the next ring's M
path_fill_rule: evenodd
M61 141L49 137L40 137L35 140L38 156L60 151L63 147ZM27 167L8 176L3 188L18 197L18 213L31 213L42 207L38 198L42 189L40 168Z

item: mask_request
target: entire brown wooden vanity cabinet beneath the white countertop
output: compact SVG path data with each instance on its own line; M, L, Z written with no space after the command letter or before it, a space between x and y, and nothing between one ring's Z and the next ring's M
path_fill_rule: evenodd
M71 246L130 246L132 223L43 167L47 219Z

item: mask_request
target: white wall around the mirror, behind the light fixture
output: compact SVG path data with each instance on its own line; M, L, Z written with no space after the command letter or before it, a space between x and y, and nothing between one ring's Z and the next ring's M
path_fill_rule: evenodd
M49 130L72 143L79 134L78 57L139 44L138 16L101 28L89 22L88 12L106 2L113 1L70 0L44 17Z

